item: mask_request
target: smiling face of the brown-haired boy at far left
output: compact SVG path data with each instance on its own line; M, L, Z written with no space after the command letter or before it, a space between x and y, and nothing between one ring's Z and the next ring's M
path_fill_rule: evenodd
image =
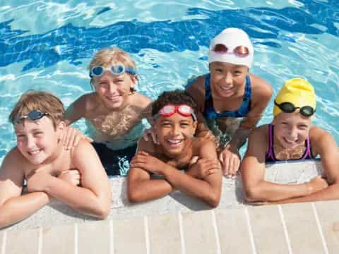
M24 120L14 128L18 150L30 163L38 165L52 157L61 145L59 138L65 124L61 121L54 128L52 120L44 116L37 121Z

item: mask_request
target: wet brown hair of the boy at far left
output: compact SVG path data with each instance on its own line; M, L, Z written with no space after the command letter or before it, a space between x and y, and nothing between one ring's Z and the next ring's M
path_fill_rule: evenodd
M21 95L14 105L8 120L14 124L16 117L25 116L32 110L48 113L54 129L60 121L64 121L65 108L61 100L49 92L29 90Z

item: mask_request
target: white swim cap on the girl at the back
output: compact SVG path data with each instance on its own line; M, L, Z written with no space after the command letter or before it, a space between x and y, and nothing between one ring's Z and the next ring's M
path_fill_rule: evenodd
M215 45L218 44L224 45L227 51L215 52ZM237 54L237 47L239 46L242 46L242 49L247 48L248 54ZM244 65L250 68L252 66L253 56L254 49L251 41L249 40L249 36L246 32L244 32L244 30L239 28L226 28L210 41L208 63L220 61L222 63Z

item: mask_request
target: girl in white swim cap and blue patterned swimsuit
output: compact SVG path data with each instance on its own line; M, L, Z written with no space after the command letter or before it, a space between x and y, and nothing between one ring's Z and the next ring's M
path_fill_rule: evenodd
M226 176L237 174L239 148L258 123L272 95L265 80L249 74L253 56L254 48L246 32L227 28L210 42L210 73L186 86L198 104L197 135L207 131L205 120L220 140L219 159Z

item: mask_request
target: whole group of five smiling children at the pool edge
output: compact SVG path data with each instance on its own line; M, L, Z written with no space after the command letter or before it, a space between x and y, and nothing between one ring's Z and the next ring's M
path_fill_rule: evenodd
M130 202L178 189L216 207L222 174L233 177L238 171L247 202L339 198L338 147L331 134L311 125L314 88L301 78L287 80L275 97L272 123L256 128L273 91L249 73L253 57L246 32L227 28L210 42L209 73L154 102L136 92L136 65L117 48L95 54L89 66L93 92L66 111L48 92L25 92L9 116L17 145L0 169L0 227L30 216L52 198L104 219L111 201L107 174L121 174L121 157L130 162ZM69 126L82 117L93 143ZM143 119L153 138L142 136ZM241 162L239 148L247 138ZM295 185L264 179L268 161L317 155L323 178Z

